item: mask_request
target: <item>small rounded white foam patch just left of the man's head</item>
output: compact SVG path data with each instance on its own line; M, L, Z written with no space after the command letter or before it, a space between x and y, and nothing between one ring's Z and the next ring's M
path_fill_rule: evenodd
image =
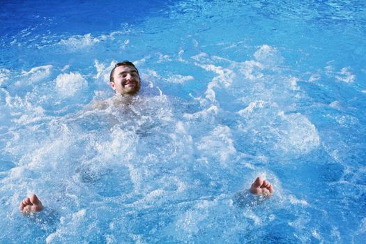
M88 82L81 74L73 72L58 75L54 82L56 83L56 90L63 96L73 96L88 86Z

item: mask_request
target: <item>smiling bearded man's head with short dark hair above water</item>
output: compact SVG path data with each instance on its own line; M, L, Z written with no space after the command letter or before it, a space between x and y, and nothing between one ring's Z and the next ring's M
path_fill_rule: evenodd
M139 71L129 61L116 63L109 77L109 84L120 95L133 95L141 88Z

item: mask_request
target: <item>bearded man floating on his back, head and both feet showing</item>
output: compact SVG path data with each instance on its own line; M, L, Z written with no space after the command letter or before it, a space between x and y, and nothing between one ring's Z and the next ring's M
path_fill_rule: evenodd
M130 61L116 63L109 77L109 84L117 96L133 96L141 88L139 71ZM265 196L274 192L272 185L259 177L252 183L249 191L254 195ZM19 208L22 213L39 212L43 210L43 205L36 195L31 195L20 203Z

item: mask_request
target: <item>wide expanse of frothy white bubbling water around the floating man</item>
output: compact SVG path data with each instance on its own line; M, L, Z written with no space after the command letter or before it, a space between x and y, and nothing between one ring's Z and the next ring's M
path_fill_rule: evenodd
M223 243L232 238L272 240L282 238L275 228L284 223L270 223L291 208L293 218L299 217L289 226L304 232L304 224L312 225L305 218L312 206L293 195L285 197L277 176L256 165L267 165L278 155L299 157L317 150L319 133L306 116L292 112L298 87L292 77L276 75L280 68L274 59L282 61L280 54L264 45L254 56L256 60L243 63L204 53L193 56L195 66L213 73L203 96L194 100L164 95L153 85L157 75L151 73L144 76L151 82L127 103L112 99L104 107L77 105L77 112L75 96L85 96L88 86L83 75L61 73L52 80L55 93L38 96L47 88L36 80L52 77L53 68L24 73L34 80L33 90L23 97L3 91L3 107L17 124L6 133L5 146L16 165L3 173L1 188L8 197L3 201L13 202L6 210L12 224L24 221L14 207L20 196L37 192L49 212L36 217L40 229L29 235L44 236L49 243L155 242L167 236ZM96 77L107 81L102 74L112 65L97 64ZM182 82L190 79L181 77ZM46 101L59 110L49 114L42 107ZM249 205L236 204L241 178L250 185L258 174L273 182L277 195L259 205L243 195ZM269 202L277 210L266 216ZM258 227L270 234L254 238L250 233ZM309 235L321 239L320 230L314 231Z

